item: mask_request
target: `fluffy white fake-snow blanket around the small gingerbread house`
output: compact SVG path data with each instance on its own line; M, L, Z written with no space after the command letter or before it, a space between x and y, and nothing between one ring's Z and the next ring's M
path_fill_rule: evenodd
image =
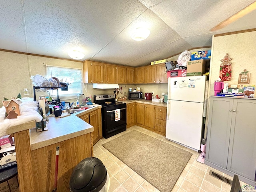
M23 124L32 120L40 122L42 116L38 113L38 102L34 101L33 98L22 98L20 104L21 115L16 119L4 118L6 112L5 107L0 108L0 136L6 135L5 132L8 127Z

